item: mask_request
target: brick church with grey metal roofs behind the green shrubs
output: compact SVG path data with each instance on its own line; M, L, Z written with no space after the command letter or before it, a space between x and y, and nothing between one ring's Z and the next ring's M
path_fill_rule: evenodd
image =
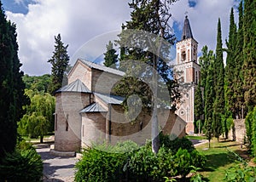
M74 152L93 143L115 144L127 139L143 145L151 139L152 111L140 111L129 121L122 105L124 98L112 92L122 77L123 71L88 60L76 61L68 73L68 84L55 92L52 152ZM159 109L157 117L163 134L185 135L186 122L170 109Z

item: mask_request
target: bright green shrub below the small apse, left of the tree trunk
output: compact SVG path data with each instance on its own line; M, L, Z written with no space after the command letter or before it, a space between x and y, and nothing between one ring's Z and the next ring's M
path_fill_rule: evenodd
M128 141L115 146L96 145L84 149L82 159L76 163L76 181L119 181L125 173L129 152L137 149L137 144Z

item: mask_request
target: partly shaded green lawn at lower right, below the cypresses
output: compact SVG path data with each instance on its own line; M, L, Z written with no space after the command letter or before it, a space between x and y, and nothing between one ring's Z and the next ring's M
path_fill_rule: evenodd
M196 147L198 151L207 156L207 163L201 174L207 181L225 181L225 172L232 166L236 166L235 156L230 155L230 151L235 151L241 155L247 153L245 147L241 149L241 145L234 141L220 142L217 139L211 140L211 148L208 149L208 144L199 145Z

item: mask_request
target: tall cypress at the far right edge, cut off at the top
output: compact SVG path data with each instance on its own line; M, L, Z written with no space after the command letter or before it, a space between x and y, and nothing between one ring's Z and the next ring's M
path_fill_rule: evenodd
M253 111L256 105L256 1L244 1L243 19L243 89L247 111Z

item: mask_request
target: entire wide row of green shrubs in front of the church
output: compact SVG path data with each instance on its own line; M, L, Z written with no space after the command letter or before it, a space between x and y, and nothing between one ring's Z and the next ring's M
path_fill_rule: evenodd
M185 141L186 140L186 141ZM97 145L85 149L77 162L76 181L164 181L165 177L186 177L194 168L201 168L206 158L195 150L189 139L168 139L160 135L157 154L151 143L138 148L126 141L114 146ZM124 151L125 149L125 151Z

